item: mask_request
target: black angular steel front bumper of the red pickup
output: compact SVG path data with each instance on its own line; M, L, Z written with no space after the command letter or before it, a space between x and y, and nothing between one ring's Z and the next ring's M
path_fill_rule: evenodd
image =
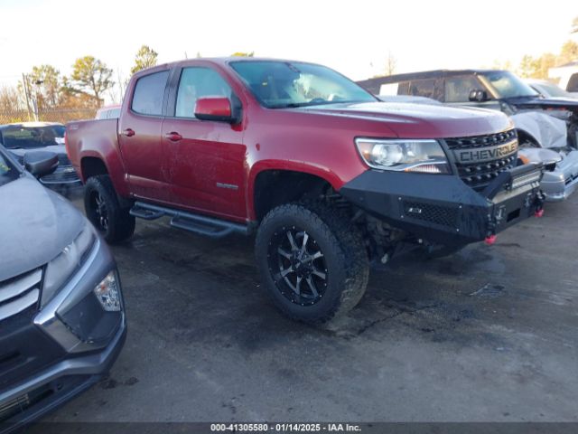
M541 165L499 175L477 193L455 175L368 170L340 194L417 238L447 246L482 241L542 209Z

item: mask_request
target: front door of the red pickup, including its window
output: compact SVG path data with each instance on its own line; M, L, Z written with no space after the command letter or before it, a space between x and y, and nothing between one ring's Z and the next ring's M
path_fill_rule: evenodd
M197 99L231 99L233 90L218 71L204 65L179 69L173 80L167 108L170 116L163 121L162 139L170 202L191 211L244 221L247 171L243 127L194 116Z

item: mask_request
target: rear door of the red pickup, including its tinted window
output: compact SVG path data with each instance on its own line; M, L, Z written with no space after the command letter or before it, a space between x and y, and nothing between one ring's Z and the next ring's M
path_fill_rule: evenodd
M140 77L118 120L118 143L131 192L153 201L166 199L161 129L169 73L167 69Z

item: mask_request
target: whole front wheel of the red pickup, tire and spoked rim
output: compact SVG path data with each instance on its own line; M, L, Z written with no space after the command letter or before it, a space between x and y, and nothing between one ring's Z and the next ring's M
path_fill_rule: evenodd
M322 203L290 203L267 213L256 234L256 261L275 306L309 324L347 313L368 286L359 230Z

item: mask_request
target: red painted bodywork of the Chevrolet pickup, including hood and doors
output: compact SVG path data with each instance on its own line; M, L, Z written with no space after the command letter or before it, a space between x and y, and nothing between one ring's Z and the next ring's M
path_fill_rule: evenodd
M497 111L424 104L376 101L266 109L228 61L181 61L138 72L129 84L117 127L102 121L96 121L98 127L90 121L69 124L78 126L68 132L70 160L79 170L84 156L100 156L121 195L245 222L256 219L253 188L256 176L265 170L317 175L338 191L368 170L358 155L355 137L467 137L511 127ZM187 66L213 68L227 80L242 105L237 125L139 117L131 112L138 78ZM224 109L215 99L211 101L199 99L201 106L207 105L203 110ZM135 136L117 138L126 128L132 128Z

